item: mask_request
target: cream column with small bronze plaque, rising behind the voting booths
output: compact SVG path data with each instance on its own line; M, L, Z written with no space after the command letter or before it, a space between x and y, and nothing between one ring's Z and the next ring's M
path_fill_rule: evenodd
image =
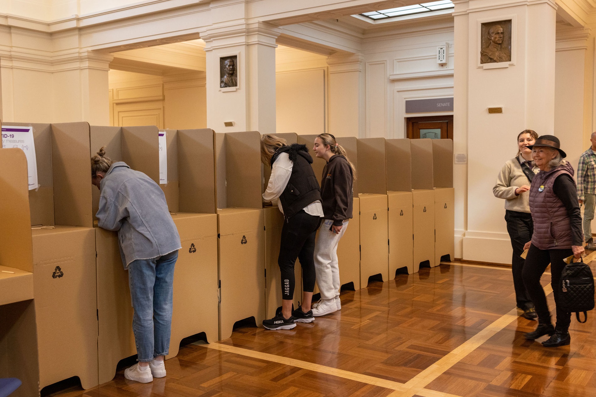
M207 127L275 133L275 27L239 24L201 35L207 52ZM220 87L220 58L237 56L237 87ZM234 126L225 127L226 121Z

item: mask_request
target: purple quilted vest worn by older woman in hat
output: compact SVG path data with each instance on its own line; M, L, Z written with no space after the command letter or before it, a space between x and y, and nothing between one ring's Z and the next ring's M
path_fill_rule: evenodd
M573 167L566 164L550 171L540 171L530 186L530 212L534 221L532 245L539 249L571 248L571 224L563 202L552 192L552 185L561 174L573 177Z

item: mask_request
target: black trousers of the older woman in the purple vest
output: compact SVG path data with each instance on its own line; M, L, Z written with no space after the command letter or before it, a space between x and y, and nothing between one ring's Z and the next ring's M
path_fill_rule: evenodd
M523 268L523 281L526 284L527 292L536 306L538 322L551 324L551 314L548 310L547 296L540 285L540 277L548 264L551 264L551 285L555 296L555 307L557 308L557 331L567 332L571 323L571 313L561 310L559 299L561 295L561 272L566 263L563 260L573 255L571 248L566 249L538 249L530 245L527 252L526 264Z

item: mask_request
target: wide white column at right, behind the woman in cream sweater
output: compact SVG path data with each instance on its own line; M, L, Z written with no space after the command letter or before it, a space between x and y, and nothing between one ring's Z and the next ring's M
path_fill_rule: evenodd
M552 134L555 115L554 1L469 0L455 4L455 152L467 149L466 260L511 262L504 201L492 193L496 175L517 152L524 129ZM511 20L511 62L480 64L480 26ZM508 33L506 33L508 34ZM495 68L496 66L496 68ZM489 114L501 107L502 114ZM456 212L461 217L459 212ZM456 225L461 223L456 220ZM457 229L457 226L456 226Z

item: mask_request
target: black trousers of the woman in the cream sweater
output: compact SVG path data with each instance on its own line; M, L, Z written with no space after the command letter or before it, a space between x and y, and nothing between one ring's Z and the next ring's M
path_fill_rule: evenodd
M511 248L513 248L511 271L513 273L513 287L516 290L516 304L520 309L527 310L534 307L534 304L530 300L526 286L523 283L524 260L520 255L522 255L524 244L532 240L534 231L532 214L505 210L505 221L507 221L507 232L511 238Z

